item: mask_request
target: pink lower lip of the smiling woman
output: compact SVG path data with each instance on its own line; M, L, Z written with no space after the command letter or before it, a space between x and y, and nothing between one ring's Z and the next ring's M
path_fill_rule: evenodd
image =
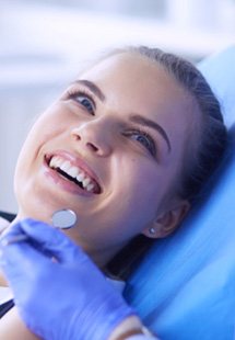
M81 196L86 196L86 197L90 197L93 195L93 193L81 189L75 183L63 178L56 170L49 168L46 161L44 162L44 173L49 181L52 181L54 185L59 186L63 191L67 191L74 195L81 195Z

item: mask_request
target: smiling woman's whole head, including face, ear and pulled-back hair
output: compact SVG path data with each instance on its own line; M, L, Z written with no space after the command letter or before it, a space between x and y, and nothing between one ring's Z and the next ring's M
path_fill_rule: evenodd
M34 124L15 170L16 220L49 223L70 208L79 224L64 233L103 271L124 272L125 251L126 275L148 239L179 226L225 141L220 104L192 65L148 47L115 50Z

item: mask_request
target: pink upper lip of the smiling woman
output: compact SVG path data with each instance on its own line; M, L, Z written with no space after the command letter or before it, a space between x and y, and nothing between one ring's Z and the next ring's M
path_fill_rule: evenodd
M87 173L87 175L98 185L99 193L102 192L101 180L98 179L96 173L91 169L91 167L81 157L78 157L67 150L56 150L56 151L45 155L45 159L48 165L49 165L50 159L54 156L60 156L64 158L64 160L69 160L72 166L79 167L81 170Z

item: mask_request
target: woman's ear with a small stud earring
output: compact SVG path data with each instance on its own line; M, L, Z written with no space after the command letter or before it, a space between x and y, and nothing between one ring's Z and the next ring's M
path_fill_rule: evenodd
M185 215L190 208L190 203L186 200L180 200L168 211L165 211L156 216L142 234L150 238L164 238L176 230Z

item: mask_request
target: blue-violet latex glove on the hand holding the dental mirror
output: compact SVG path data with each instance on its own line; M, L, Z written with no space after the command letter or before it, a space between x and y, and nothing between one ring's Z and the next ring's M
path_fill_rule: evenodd
M5 240L17 235L30 240L5 246ZM24 219L3 236L1 251L1 265L19 313L43 339L105 340L134 314L91 259L60 230Z

